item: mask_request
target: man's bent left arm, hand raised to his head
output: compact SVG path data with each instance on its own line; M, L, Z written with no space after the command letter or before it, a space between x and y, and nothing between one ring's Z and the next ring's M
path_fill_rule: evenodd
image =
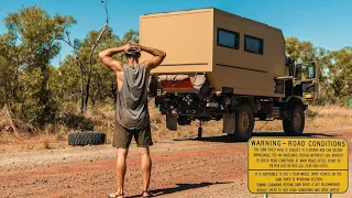
M109 68L111 68L112 70L121 72L122 70L121 62L113 59L112 56L120 52L125 52L125 51L127 51L127 45L122 47L108 48L108 50L101 51L99 53L99 57L102 61L102 63Z

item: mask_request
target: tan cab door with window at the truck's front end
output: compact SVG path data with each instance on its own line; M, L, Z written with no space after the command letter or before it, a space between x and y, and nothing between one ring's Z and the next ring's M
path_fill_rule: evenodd
M295 70L296 85L301 85L302 97L308 101L318 100L318 65L315 62L296 64Z

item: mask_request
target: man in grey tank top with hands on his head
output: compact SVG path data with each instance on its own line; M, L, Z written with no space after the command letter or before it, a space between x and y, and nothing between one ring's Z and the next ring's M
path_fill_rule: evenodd
M144 51L154 57L139 63L141 52ZM123 52L128 64L112 58ZM129 146L134 136L142 157L143 197L150 197L148 185L151 179L152 160L148 146L153 145L150 116L147 110L147 80L151 69L160 66L166 53L156 48L129 43L122 47L108 48L99 53L102 63L116 72L118 80L118 100L116 106L116 131L112 145L118 147L117 183L118 190L109 197L123 198L123 182L127 170L125 160Z

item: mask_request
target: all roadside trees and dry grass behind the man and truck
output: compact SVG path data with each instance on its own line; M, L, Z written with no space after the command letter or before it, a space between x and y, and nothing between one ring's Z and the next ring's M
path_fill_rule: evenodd
M50 15L40 7L22 8L3 22L8 31L0 34L0 152L11 145L24 150L63 147L68 133L81 130L105 132L110 143L117 82L114 74L98 59L98 52L139 42L138 31L120 37L108 28L94 52L89 73L90 48L99 30L87 32L84 38L72 37L70 28L79 21L70 15ZM50 63L63 45L69 45L73 53L54 67ZM352 46L328 51L287 37L286 51L294 59L319 65L320 99L309 106L306 129L352 124L352 109L348 107ZM116 58L123 61L123 56ZM197 135L197 122L177 132L167 131L153 100L151 117L155 141ZM264 123L256 122L254 131ZM221 122L207 122L204 129L205 135L221 134ZM282 123L268 122L261 131L282 131Z

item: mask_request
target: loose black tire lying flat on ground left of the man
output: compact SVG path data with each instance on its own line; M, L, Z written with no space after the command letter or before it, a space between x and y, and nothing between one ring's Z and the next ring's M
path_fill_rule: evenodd
M105 133L85 131L68 134L68 145L99 145L105 143Z

